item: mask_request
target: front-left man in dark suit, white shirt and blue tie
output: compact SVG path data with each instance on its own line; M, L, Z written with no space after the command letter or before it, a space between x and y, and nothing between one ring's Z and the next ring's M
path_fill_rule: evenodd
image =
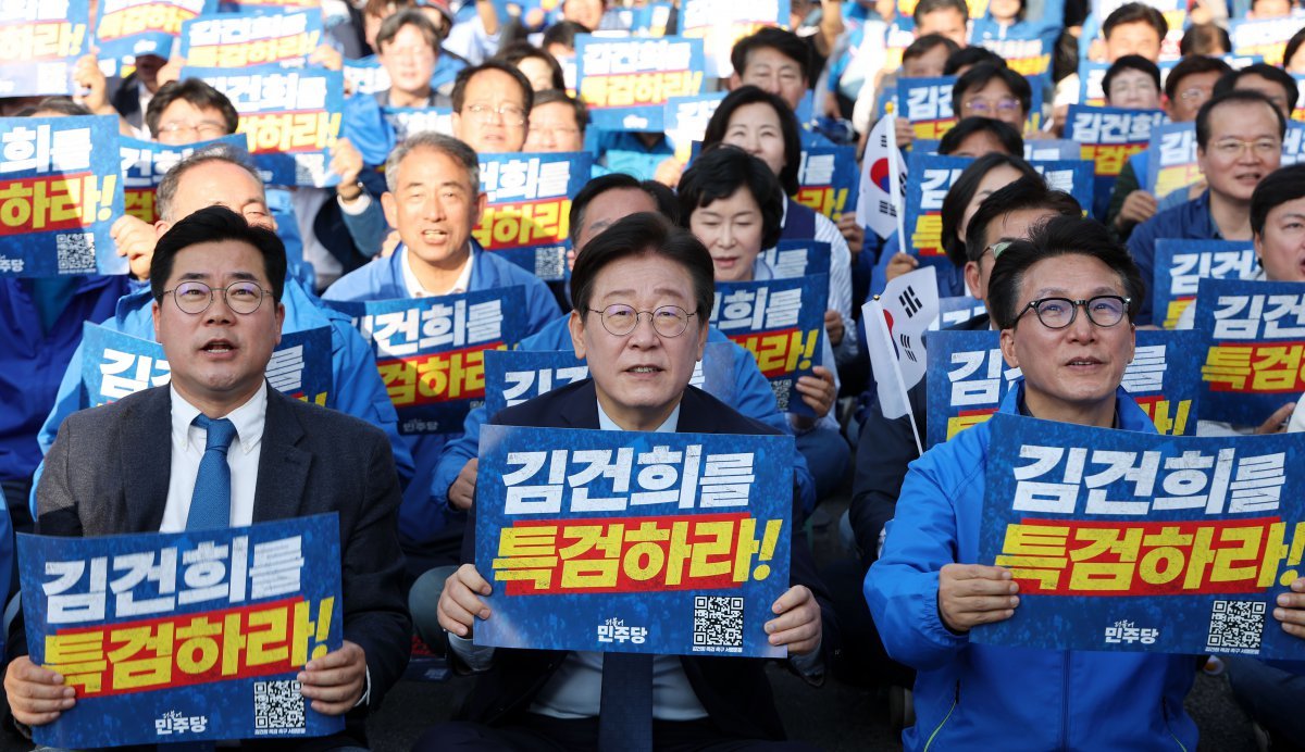
M177 532L337 512L345 641L298 679L315 710L347 714L346 731L275 748L356 749L367 710L403 672L411 633L389 442L360 420L269 387L286 280L284 246L271 231L221 206L202 209L159 239L150 280L171 386L64 422L37 489L37 529ZM214 451L218 435L224 444ZM224 473L219 494L209 493L213 472ZM26 657L21 620L12 632L9 709L22 725L50 723L73 706L74 691Z

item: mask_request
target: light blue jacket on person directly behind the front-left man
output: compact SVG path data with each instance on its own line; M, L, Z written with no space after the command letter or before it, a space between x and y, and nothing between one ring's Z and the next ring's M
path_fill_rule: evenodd
M111 318L91 317L89 321L107 318L106 327L153 341L151 302L154 298L146 287L123 296ZM363 340L363 335L354 328L354 322L347 315L324 306L313 293L290 278L286 279L286 289L281 296L281 302L286 306L286 322L282 331L330 327L331 390L326 395L326 407L382 429L394 450L394 468L399 473L399 480L407 482L412 477L412 454L408 451L407 443L399 438L398 414L394 412L394 404L390 403L385 382L381 381L381 375L376 370L376 358L372 357L372 351ZM77 323L77 331L81 332L81 322ZM78 394L81 368L82 349L78 344L77 352L73 353L72 361L64 371L64 381L59 384L55 407L40 427L42 452L48 452L55 443L55 434L64 418L81 409ZM35 504L35 494L33 494L33 504ZM33 506L33 515L35 515L35 506Z

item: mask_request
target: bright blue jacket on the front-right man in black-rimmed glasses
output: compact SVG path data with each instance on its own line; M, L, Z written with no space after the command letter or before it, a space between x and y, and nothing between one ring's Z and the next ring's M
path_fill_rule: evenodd
M1000 411L1018 413L1024 383ZM1124 430L1155 433L1116 390ZM889 656L916 670L906 749L1188 749L1197 725L1182 709L1191 656L1041 650L971 644L938 615L938 571L979 560L989 424L911 463L865 600Z

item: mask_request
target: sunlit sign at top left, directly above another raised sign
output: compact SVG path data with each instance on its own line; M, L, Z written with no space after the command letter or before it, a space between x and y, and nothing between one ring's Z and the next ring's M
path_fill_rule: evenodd
M219 13L181 25L181 57L196 68L303 68L321 43L320 10Z

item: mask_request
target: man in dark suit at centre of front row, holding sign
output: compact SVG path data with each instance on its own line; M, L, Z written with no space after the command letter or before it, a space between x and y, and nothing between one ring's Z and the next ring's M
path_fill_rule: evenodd
M634 214L613 224L585 248L572 276L570 334L591 378L505 409L493 422L778 433L688 386L706 341L713 276L702 244L663 218ZM784 731L758 659L472 645L475 620L492 618L480 600L491 586L471 563L475 511L472 504L463 537L467 563L449 577L440 597L440 623L450 633L455 665L482 676L465 709L468 722L433 729L416 749L806 748L782 742ZM800 516L796 502L793 513ZM837 643L834 623L806 540L800 528L791 528L791 586L771 606L775 618L765 628L770 644L788 646L791 667L818 683L823 654ZM651 662L645 674L613 671L639 658ZM620 683L609 679L617 675L626 683L642 682L642 705L609 702L609 691Z

